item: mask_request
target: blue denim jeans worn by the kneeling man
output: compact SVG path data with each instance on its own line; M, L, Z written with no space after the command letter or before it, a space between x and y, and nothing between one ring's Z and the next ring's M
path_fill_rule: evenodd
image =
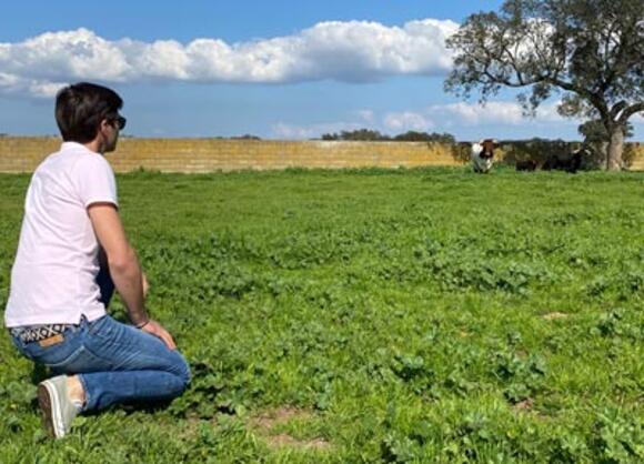
M13 343L54 374L78 374L85 393L83 411L171 400L190 382L190 369L178 351L109 315L92 322L83 317L63 336L63 342L48 347L16 337Z

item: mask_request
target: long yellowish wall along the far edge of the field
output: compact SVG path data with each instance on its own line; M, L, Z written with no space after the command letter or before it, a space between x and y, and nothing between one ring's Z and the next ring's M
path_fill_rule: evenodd
M461 144L466 149L464 144ZM0 172L31 172L60 147L58 138L0 137ZM467 151L467 150L465 150ZM644 170L636 144L632 169ZM503 150L499 152L503 157ZM399 168L461 165L449 145L425 142L270 141L228 139L122 139L108 158L117 172L209 172L284 168Z

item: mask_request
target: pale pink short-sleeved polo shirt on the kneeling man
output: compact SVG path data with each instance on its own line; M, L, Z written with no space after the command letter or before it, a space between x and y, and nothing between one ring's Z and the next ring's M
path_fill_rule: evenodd
M4 312L8 327L78 324L105 314L95 283L99 242L87 208L118 206L108 161L80 143L64 142L38 167L24 201L24 219Z

